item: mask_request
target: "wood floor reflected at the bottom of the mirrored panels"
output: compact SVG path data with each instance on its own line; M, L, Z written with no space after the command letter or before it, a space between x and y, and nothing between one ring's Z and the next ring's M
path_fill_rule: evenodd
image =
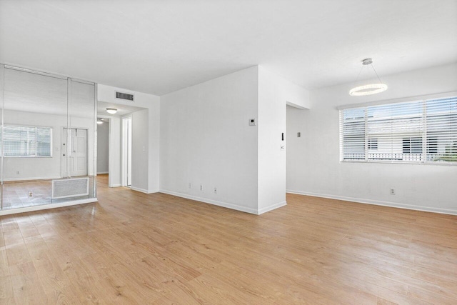
M94 186L94 177L89 179L89 194ZM29 191L32 196L29 196ZM1 199L3 209L18 209L28 206L55 204L59 202L87 199L93 196L79 196L65 199L51 199L52 179L34 181L7 181L1 186Z

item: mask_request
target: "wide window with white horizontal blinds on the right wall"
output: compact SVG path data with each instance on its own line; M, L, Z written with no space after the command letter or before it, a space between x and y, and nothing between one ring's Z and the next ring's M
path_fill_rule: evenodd
M457 96L340 111L341 161L457 164Z

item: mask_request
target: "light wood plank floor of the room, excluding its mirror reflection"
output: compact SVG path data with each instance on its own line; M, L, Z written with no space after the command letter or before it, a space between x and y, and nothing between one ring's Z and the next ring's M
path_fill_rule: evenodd
M108 189L2 216L1 304L457 304L457 216L288 195L261 216Z

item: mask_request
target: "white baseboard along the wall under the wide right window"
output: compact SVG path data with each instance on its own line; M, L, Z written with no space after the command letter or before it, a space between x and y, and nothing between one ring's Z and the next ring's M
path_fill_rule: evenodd
M433 212L433 213L440 213L440 214L457 215L457 209L441 209L441 208L436 208L436 207L432 207L432 206L416 206L413 204L399 204L397 202L390 202L390 201L379 201L379 200L371 200L371 199L361 199L361 198L356 198L356 197L318 194L318 193L310 193L307 191L293 191L291 189L287 189L286 193L314 196L314 197L321 197L321 198L328 198L328 199L338 199L338 200L344 200L344 201L352 201L352 202L357 202L358 204L374 204L376 206L390 206L390 207L399 208L399 209L408 209L408 210L415 210L415 211L426 211L426 212Z

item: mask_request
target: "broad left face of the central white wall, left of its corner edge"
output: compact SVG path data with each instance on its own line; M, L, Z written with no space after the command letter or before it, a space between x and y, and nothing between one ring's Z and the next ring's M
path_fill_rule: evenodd
M253 66L161 96L162 192L257 213L257 88Z

